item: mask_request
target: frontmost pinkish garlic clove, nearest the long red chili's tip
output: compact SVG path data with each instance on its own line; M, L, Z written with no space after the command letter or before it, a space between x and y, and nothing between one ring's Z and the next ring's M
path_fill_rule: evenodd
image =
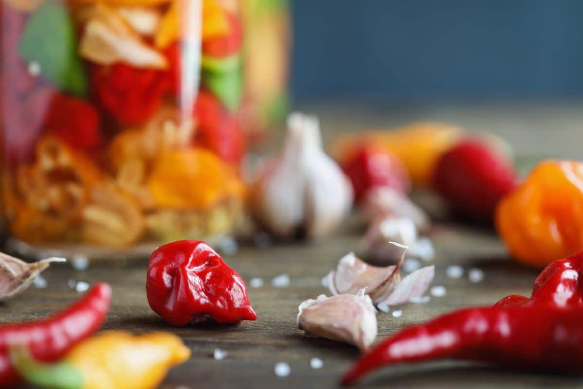
M318 296L300 304L297 326L307 334L366 350L377 337L377 315L364 289L356 295Z

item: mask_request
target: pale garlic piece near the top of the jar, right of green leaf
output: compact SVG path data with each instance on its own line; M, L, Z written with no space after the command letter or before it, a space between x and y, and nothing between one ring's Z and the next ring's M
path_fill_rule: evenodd
M164 55L142 41L141 36L115 9L102 3L93 9L79 51L83 58L101 65L124 62L138 68L168 67Z

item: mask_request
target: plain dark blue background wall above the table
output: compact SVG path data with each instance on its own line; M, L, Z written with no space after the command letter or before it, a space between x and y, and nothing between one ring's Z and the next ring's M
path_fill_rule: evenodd
M291 0L296 100L583 95L581 0Z

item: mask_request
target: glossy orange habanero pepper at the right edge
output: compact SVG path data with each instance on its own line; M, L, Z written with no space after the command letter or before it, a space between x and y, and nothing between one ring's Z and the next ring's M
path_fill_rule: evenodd
M583 163L538 164L500 201L496 227L512 257L532 267L583 250Z

